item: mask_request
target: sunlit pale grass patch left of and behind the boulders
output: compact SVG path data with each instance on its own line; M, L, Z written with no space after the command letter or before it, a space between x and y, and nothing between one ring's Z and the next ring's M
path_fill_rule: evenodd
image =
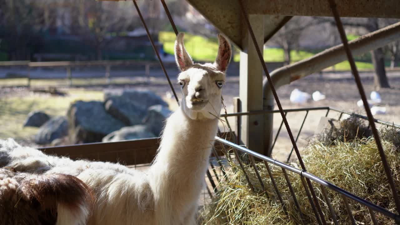
M76 100L103 100L102 91L68 89L67 96L30 94L0 98L0 139L32 139L38 128L22 127L30 111L43 110L48 115L66 115L71 102Z

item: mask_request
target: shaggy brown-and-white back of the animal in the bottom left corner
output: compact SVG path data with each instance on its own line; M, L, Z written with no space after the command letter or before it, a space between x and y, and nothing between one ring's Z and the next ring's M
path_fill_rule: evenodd
M90 189L74 176L0 169L1 225L84 225L92 204Z

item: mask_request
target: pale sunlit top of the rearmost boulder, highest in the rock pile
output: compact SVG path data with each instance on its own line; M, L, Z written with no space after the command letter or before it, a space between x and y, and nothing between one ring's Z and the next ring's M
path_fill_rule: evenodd
M104 100L105 102L111 96L121 96L126 98L131 102L135 102L143 106L144 108L149 108L152 105L160 104L162 106L168 106L168 103L164 102L162 98L156 95L154 92L150 90L142 90L142 89L125 89L125 90L105 90L104 91Z

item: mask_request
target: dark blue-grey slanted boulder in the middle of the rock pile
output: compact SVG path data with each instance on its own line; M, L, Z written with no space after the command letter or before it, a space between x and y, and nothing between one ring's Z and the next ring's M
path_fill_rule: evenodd
M104 103L104 108L110 115L124 122L127 126L142 123L146 115L146 108L144 106L132 102L123 96L111 96Z

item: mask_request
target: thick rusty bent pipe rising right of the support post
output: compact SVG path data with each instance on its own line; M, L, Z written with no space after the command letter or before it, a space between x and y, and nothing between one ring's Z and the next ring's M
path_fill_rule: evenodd
M363 35L356 40L348 42L348 45L354 55L359 55L398 39L400 39L400 22ZM276 69L271 72L270 76L272 83L276 89L278 89L283 85L290 84L290 82L294 80L321 71L324 68L333 66L344 60L346 60L346 52L343 44L340 44L328 48L310 58ZM268 82L266 78L264 78L263 81L263 93L263 109L273 110L274 96L272 95L270 82ZM272 144L271 133L273 131L273 119L274 116L272 113L264 116L264 148L270 148Z

